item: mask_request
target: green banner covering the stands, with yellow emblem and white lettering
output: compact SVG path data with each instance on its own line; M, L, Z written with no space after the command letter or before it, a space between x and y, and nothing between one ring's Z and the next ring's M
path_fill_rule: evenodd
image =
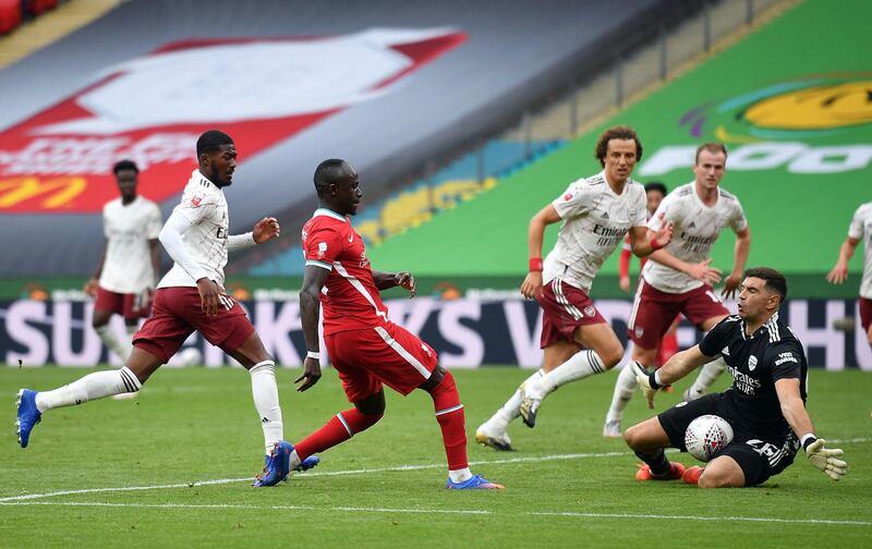
M816 32L832 37L827 48L806 39L809 21L821 21ZM570 182L600 171L592 155L596 135L623 123L635 127L644 144L634 176L662 180L669 187L693 179L697 145L726 142L730 156L722 184L739 197L748 216L753 234L749 265L765 261L823 280L852 212L869 200L872 133L868 124L840 122L849 120L847 111L845 118L831 118L827 110L799 111L794 106L812 101L792 99L823 94L820 105L828 106L856 94L857 105L865 105L868 63L853 42L860 30L840 28L841 21L826 2L802 4L556 154L499 181L494 191L372 247L373 265L384 270L414 266L420 276L522 274L528 220ZM836 68L840 72L833 74ZM849 109L847 102L840 105ZM861 110L855 115L863 115ZM800 115L811 123L784 129ZM788 235L790 242L802 243L801 253L785 245ZM552 228L545 249L555 239ZM732 242L725 234L716 244L718 268L731 268ZM617 272L617 254L601 272Z

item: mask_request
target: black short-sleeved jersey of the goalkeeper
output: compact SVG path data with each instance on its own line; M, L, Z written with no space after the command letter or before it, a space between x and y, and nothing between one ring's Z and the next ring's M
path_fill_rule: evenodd
M744 321L728 316L700 342L706 356L723 356L732 375L726 395L746 428L775 439L790 432L782 415L775 381L799 379L799 392L806 402L809 365L802 344L775 314L752 334Z

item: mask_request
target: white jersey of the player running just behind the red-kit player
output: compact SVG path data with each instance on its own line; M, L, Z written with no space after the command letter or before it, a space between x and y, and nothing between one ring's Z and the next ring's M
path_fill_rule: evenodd
M191 259L208 273L210 280L223 286L227 231L230 228L223 191L199 170L194 170L182 193L182 202L172 211L183 215L193 225L182 234ZM158 288L196 285L196 281L179 264L173 264Z

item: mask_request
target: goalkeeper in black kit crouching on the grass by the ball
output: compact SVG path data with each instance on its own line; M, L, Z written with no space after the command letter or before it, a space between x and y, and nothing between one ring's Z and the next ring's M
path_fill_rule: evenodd
M847 472L839 449L826 448L816 438L806 411L809 366L802 344L778 319L787 295L787 281L774 269L744 271L739 314L715 326L699 345L674 355L661 369L649 374L638 363L637 379L654 407L654 395L722 356L732 375L732 387L723 393L681 402L666 412L627 429L627 444L644 464L639 480L683 478L700 488L760 485L794 463L802 448L812 465L834 480ZM685 447L685 431L694 418L714 414L726 419L735 436L705 468L670 463L665 448Z

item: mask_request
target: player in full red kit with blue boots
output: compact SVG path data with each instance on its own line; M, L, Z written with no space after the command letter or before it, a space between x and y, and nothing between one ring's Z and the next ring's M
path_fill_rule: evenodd
M433 398L436 420L448 456L449 489L501 489L473 475L467 461L463 404L450 371L438 365L436 351L388 320L379 291L393 286L415 292L409 272L373 271L361 236L348 216L363 196L358 172L344 160L329 159L315 170L319 208L303 225L306 258L300 314L306 358L300 391L320 378L318 309L324 306L324 342L353 407L342 411L295 447L279 447L289 460L286 471L303 460L350 439L378 422L385 413L383 383L400 394L423 389Z

